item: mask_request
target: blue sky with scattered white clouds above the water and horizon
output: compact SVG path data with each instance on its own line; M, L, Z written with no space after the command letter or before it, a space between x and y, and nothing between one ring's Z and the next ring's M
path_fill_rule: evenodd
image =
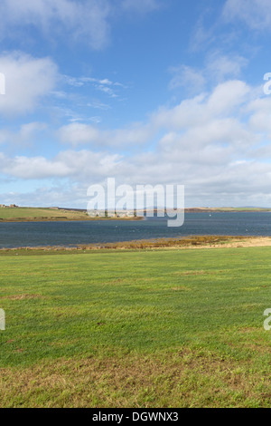
M0 203L185 185L186 207L271 205L269 0L2 0Z

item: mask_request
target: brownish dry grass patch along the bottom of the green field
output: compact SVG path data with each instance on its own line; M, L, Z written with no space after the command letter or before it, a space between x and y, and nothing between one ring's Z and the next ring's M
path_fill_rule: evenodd
M1 406L220 407L271 403L270 378L239 363L189 349L166 356L126 355L41 363L0 370Z

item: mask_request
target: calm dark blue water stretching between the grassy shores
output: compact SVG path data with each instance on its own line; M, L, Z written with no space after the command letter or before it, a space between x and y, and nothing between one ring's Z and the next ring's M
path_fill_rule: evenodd
M271 213L187 213L181 228L167 228L164 218L1 223L0 247L76 246L189 235L271 236Z

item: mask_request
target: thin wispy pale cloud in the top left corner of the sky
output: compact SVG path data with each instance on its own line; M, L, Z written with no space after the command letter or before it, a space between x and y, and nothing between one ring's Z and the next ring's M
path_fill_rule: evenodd
M65 34L65 39L84 40L100 49L107 44L109 12L107 0L2 0L2 38L32 25L47 36Z

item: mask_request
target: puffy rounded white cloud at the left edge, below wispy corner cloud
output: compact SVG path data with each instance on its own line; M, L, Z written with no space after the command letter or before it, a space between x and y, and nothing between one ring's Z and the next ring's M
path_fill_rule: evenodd
M0 70L5 73L5 95L0 97L2 115L32 111L43 96L49 95L58 75L50 58L36 59L24 53L1 55Z

